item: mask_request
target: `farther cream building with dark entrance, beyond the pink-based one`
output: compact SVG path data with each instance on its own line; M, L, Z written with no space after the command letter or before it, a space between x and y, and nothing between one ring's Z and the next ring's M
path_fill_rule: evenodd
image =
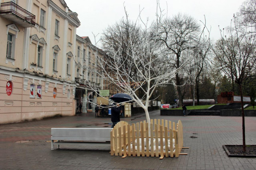
M83 112L94 112L94 104L97 101L97 93L103 89L103 80L99 77L98 57L103 58L105 53L95 47L89 37L76 36L77 53L75 57L75 80L77 104L82 101ZM97 92L97 93L96 93ZM86 103L90 101L92 103Z

